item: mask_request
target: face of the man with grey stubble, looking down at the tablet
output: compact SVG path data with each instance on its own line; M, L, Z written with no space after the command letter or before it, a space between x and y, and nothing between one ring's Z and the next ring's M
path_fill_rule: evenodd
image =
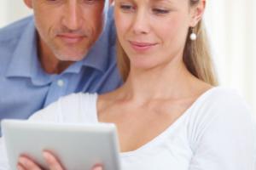
M104 0L24 1L34 10L41 53L59 60L83 59L102 31Z

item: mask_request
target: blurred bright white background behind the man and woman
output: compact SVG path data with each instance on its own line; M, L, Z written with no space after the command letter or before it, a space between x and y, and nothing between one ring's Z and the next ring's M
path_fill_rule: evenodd
M29 14L23 0L0 1L0 27ZM256 116L256 1L207 0L204 20L220 85L235 88Z

